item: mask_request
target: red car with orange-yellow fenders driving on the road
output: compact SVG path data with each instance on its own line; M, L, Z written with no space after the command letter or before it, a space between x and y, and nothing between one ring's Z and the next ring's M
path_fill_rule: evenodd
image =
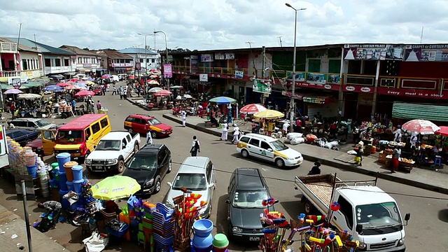
M172 134L173 128L165 123L161 123L154 116L144 114L133 114L125 119L125 130L146 134L151 132L151 137L167 137Z

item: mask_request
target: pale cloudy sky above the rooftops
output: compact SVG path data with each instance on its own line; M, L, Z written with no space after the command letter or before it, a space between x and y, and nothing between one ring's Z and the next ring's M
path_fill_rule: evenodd
M325 43L447 43L447 0L1 0L0 36L59 47L122 49L165 31L168 48L190 50ZM281 37L281 38L279 38ZM163 34L148 36L165 49Z

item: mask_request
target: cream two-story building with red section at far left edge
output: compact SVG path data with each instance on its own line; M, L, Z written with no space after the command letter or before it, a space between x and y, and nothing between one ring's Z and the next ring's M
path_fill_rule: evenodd
M18 45L18 46L17 46ZM38 78L43 76L42 54L38 48L29 48L8 38L0 38L0 81L10 77Z

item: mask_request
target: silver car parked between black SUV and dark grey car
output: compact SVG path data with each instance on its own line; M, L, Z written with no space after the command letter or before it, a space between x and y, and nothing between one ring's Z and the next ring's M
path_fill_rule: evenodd
M173 197L182 195L181 188L187 188L191 193L202 195L195 207L200 207L200 202L207 204L200 209L201 218L208 218L211 214L213 193L216 187L215 169L211 160L207 157L188 157L183 160L179 172L173 182L167 182L169 191L167 194L167 207L174 209ZM258 216L260 221L260 216Z

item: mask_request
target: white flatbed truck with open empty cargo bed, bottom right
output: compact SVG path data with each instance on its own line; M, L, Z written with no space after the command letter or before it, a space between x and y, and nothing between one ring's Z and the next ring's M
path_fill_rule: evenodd
M323 174L296 176L294 186L302 192L305 214L316 209L331 216L332 228L349 231L360 241L360 251L404 252L405 224L398 205L376 185L377 179L344 182L336 174ZM340 209L331 214L332 202ZM406 214L406 223L409 218Z

